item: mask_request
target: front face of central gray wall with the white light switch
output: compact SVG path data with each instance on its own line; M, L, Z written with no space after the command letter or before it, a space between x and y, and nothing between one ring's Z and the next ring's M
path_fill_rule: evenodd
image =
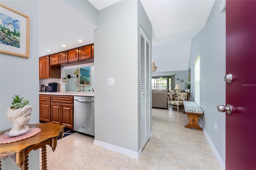
M137 3L120 1L100 10L94 32L95 140L135 152L140 148ZM141 24L148 22L144 18ZM145 29L148 35L150 30ZM114 86L108 78L115 78Z

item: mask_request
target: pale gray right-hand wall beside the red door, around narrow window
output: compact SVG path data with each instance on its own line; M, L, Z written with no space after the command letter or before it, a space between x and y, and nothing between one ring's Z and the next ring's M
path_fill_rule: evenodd
M217 111L218 105L225 105L226 74L226 13L220 13L220 2L216 0L205 28L192 39L189 68L191 68L191 95L194 99L193 62L201 52L200 59L200 116L204 129L216 150L225 162L225 113ZM217 123L217 131L214 123Z

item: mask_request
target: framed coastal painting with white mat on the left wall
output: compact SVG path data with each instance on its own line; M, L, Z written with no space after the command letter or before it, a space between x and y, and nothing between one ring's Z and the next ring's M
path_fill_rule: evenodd
M29 57L30 17L0 4L0 52Z

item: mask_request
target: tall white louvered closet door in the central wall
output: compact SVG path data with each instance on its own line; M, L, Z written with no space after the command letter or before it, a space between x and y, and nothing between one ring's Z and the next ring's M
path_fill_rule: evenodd
M150 138L150 40L140 28L141 149Z

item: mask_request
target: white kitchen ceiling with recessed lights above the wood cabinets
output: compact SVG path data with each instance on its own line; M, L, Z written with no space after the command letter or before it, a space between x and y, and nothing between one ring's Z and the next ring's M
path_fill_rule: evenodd
M39 57L94 43L97 27L62 0L39 0L38 4Z

